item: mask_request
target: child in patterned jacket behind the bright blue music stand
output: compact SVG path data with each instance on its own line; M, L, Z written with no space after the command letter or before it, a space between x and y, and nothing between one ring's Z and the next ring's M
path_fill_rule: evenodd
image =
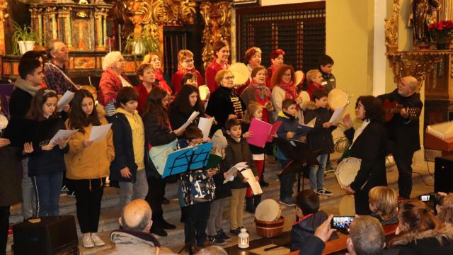
M200 145L203 133L200 128L188 127L184 132L188 147ZM210 205L214 199L215 185L212 176L218 169L200 169L181 174L181 190L186 205L187 218L184 225L185 244L202 248L206 242L207 219L210 216Z

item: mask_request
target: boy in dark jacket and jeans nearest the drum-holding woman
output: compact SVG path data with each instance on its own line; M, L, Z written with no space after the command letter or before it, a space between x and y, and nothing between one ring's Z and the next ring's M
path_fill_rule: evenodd
M329 122L332 113L328 110L327 92L322 89L313 91L313 101L304 104L305 121L309 122L316 118L313 130L307 135L309 148L312 152L321 149L318 159L319 166L310 166L310 188L319 195L332 196L331 191L323 187L324 171L328 155L333 152L332 131L337 127Z

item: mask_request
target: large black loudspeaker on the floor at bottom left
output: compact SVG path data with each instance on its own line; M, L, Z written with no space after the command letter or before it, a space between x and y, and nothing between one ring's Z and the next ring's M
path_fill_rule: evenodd
M79 254L76 221L72 215L41 217L40 222L13 225L15 255Z

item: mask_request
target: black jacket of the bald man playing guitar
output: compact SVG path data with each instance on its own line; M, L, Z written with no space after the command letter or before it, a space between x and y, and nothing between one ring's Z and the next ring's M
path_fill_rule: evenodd
M420 94L413 94L409 97L403 97L398 94L398 89L395 89L389 94L384 94L378 97L384 101L389 99L391 102L397 102L403 107L420 108L420 113L423 108L423 103L420 101ZM399 113L395 113L394 118L386 123L387 135L391 143L390 149L409 150L415 152L420 149L420 135L418 129L420 127L420 114L415 118L404 119Z

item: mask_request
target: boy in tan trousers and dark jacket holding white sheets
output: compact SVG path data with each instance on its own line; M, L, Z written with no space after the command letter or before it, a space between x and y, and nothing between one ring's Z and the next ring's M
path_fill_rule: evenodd
M242 137L241 123L237 119L226 120L226 141L228 147L225 149L225 159L222 162L223 171L228 171L232 166L239 162L246 162L253 171L256 181L258 181L256 166L253 164L253 157L248 147L247 141ZM248 187L247 179L239 172L233 181L229 183L231 187L231 203L229 206L230 233L239 234L243 227L243 200L246 196Z

